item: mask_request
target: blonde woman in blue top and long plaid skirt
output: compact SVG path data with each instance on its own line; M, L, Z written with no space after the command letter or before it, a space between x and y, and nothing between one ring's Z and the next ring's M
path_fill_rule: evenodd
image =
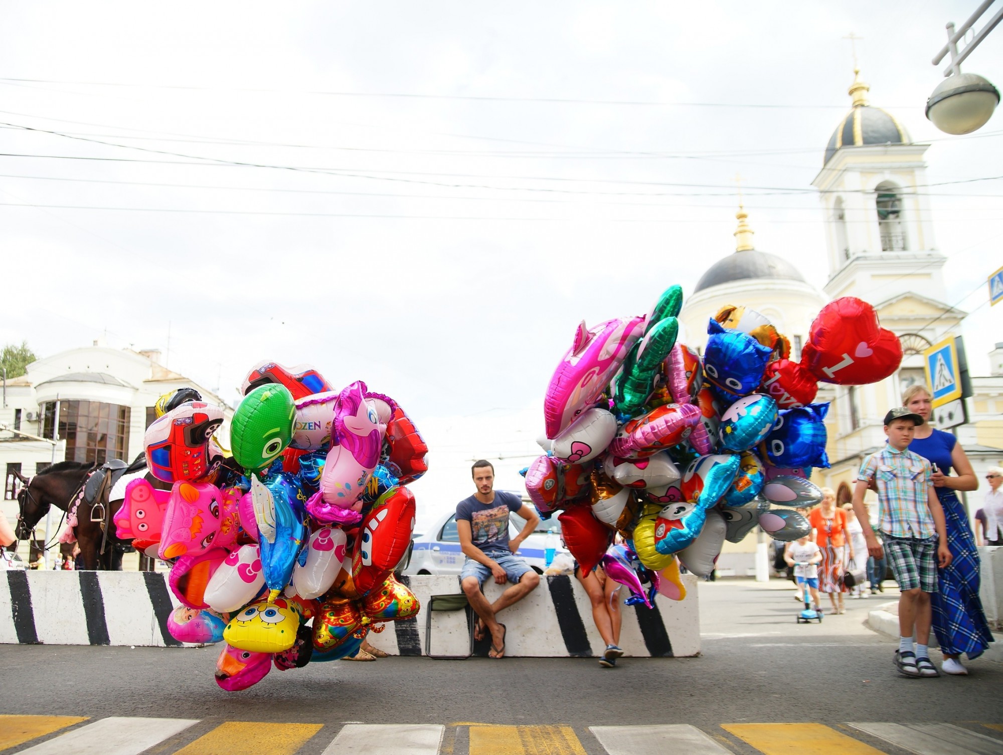
M977 490L978 479L958 440L950 433L930 427L930 394L924 386L912 386L902 397L903 406L924 419L916 427L909 450L936 465L934 487L947 520L947 540L953 560L937 570L937 592L932 595L934 633L944 654L945 674L964 675L961 654L981 656L993 641L979 598L979 551L965 507L956 490ZM958 474L952 476L951 469Z

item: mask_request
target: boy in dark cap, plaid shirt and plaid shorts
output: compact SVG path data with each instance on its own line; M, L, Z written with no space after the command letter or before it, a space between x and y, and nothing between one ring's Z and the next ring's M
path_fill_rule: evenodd
M907 677L939 677L927 644L933 611L930 593L937 591L937 566L951 563L944 509L934 492L930 462L909 450L923 418L906 407L885 415L888 445L868 457L854 488L854 511L864 529L868 552L882 557L882 546L871 528L864 493L872 481L878 489L878 526L885 553L899 582L899 650L895 665ZM936 554L936 555L935 555ZM913 633L916 645L913 645Z

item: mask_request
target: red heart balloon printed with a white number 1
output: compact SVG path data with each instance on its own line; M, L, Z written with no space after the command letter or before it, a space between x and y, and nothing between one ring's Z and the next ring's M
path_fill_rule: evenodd
M855 296L830 301L808 329L801 366L822 383L864 386L899 368L902 344L878 322L878 313Z

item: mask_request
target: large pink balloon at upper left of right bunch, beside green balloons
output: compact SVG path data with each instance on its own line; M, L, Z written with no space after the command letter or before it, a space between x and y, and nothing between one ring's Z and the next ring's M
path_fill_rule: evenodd
M644 332L644 317L607 320L591 330L583 320L544 399L547 437L554 439L595 404Z

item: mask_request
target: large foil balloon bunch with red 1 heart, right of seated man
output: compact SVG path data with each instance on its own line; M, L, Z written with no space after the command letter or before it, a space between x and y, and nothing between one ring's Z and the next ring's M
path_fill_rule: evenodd
M799 361L743 306L710 319L699 354L676 341L682 302L672 286L645 315L579 325L544 400L547 453L524 470L579 564L602 564L630 588L628 603L681 599L680 562L707 575L724 540L757 525L778 540L809 533L793 508L821 500L807 478L828 467L818 382L875 383L902 360L861 299L818 313Z

